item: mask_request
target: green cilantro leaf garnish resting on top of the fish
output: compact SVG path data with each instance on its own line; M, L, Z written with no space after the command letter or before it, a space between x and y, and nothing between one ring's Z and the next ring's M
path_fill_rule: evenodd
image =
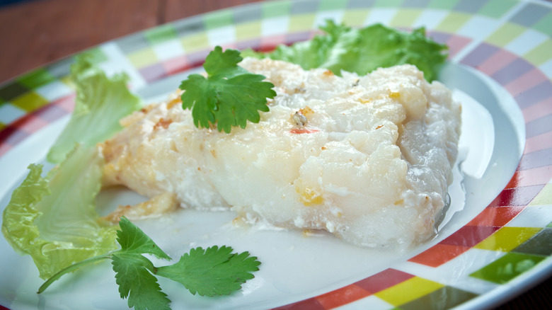
M215 47L205 58L207 78L191 74L182 81L182 107L192 110L196 127L229 133L231 127L245 128L247 121L259 122L258 111L268 112L266 98L274 98L274 85L263 81L265 76L252 74L238 66L243 58L238 50Z

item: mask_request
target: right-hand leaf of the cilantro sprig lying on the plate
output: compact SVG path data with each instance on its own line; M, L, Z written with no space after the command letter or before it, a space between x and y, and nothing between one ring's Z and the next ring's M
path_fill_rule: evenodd
M178 263L159 267L157 275L180 282L192 294L227 295L241 289L241 284L253 278L251 272L259 270L260 265L248 252L234 254L231 251L228 246L194 248L180 257Z

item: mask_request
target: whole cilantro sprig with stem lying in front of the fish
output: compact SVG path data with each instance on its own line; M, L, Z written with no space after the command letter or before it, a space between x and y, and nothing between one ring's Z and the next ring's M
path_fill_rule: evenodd
M110 259L115 271L115 282L119 285L122 299L128 298L128 306L134 309L171 309L167 294L161 292L157 277L166 277L180 282L192 294L217 296L231 294L254 276L260 262L248 252L232 253L229 246L212 246L207 249L192 248L177 263L161 267L154 266L143 254L171 260L159 246L138 226L121 217L117 242L120 250L88 258L57 272L38 289L42 293L55 280L83 265Z

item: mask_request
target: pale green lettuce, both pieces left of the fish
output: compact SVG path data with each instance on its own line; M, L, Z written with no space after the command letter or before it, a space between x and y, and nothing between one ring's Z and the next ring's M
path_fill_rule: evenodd
M6 240L18 253L32 256L42 278L115 248L118 225L96 212L104 160L95 144L122 129L120 118L140 107L124 75L108 78L86 57L76 59L71 74L75 110L48 154L61 163L45 178L42 166L31 164L2 220Z

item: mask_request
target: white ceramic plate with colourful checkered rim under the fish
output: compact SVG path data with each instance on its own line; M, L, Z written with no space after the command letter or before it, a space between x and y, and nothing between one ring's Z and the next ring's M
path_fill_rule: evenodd
M328 234L231 224L231 212L182 210L139 226L174 258L229 245L263 262L229 297L192 296L160 280L173 309L441 309L489 306L549 275L552 261L551 6L530 1L270 1L187 18L93 49L100 67L131 76L151 101L195 70L214 45L269 49L309 38L332 18L352 26L425 25L450 47L440 80L463 104L452 205L439 234L407 253L345 244ZM67 122L71 59L0 87L0 206L42 162ZM41 106L41 108L38 108ZM23 118L21 118L23 117ZM0 127L1 128L1 127ZM142 197L124 190L106 208ZM104 210L105 211L105 210ZM63 277L45 294L32 260L0 240L0 304L10 309L125 309L109 263ZM163 262L158 262L163 264ZM510 269L508 269L510 268Z

